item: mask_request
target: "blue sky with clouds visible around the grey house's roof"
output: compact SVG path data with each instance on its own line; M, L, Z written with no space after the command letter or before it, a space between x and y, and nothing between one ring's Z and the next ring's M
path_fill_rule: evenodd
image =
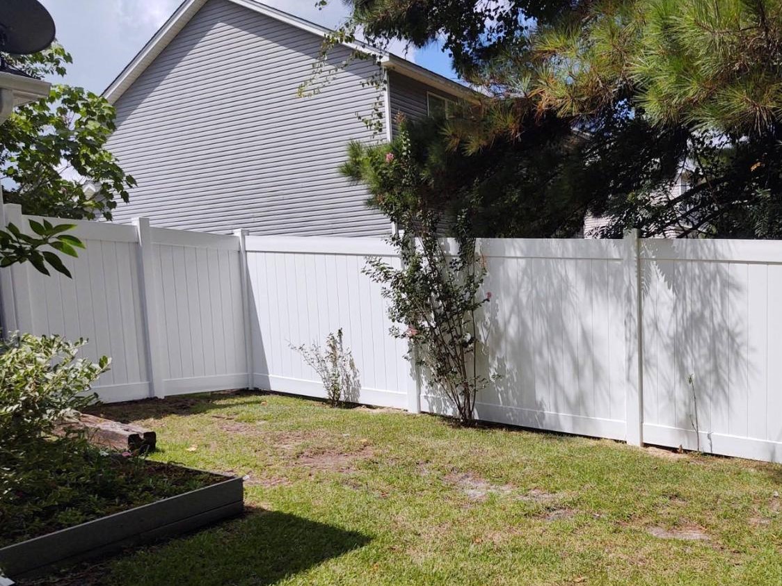
M66 82L100 93L149 41L181 0L41 0L52 13L57 38L73 55ZM266 0L268 5L326 27L337 26L347 11L340 0L319 10L315 0ZM402 55L404 45L393 52ZM404 56L404 55L403 55ZM450 60L436 45L407 53L421 66L454 78Z

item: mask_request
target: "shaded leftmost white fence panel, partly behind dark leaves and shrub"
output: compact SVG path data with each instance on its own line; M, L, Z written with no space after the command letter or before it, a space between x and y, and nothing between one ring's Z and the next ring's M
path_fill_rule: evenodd
M18 215L16 224L27 227L27 219ZM111 370L95 387L103 400L149 396L135 227L50 220L76 224L71 233L81 238L86 250L75 259L62 256L72 279L54 270L47 277L29 265L23 266L16 283L18 298L27 298L32 311L28 322L17 323L16 327L38 335L85 338L85 358L97 361L100 356L110 356Z

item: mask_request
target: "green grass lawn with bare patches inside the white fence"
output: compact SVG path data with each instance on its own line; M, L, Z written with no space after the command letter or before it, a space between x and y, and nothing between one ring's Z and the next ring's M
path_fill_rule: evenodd
M248 510L59 584L782 584L782 466L277 395L98 413Z

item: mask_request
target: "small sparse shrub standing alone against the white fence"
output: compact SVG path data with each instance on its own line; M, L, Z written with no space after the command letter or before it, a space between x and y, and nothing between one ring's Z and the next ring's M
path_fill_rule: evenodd
M357 400L361 381L353 354L343 345L341 327L336 334L328 334L325 350L317 342L313 342L309 348L305 345L291 345L291 349L299 352L304 362L312 366L321 377L326 398L332 407L341 405L343 401Z

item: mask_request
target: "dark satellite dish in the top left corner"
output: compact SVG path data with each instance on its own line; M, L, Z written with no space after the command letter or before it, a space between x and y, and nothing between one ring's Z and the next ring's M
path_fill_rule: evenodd
M0 51L27 55L54 41L54 20L38 0L0 0Z

